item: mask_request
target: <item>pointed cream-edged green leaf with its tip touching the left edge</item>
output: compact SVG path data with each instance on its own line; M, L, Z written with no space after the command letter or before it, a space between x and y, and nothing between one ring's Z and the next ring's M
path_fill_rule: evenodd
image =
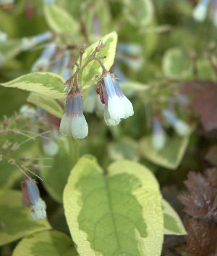
M48 72L22 75L7 83L1 83L1 86L34 91L53 99L61 99L66 95L64 93L64 78Z

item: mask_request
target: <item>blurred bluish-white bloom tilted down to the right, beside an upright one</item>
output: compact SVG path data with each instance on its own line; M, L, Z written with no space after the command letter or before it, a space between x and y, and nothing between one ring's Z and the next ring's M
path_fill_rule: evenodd
M174 130L177 134L179 134L179 136L185 136L187 135L187 133L190 132L190 126L183 120L176 117L174 112L171 112L169 110L163 110L163 116L166 118L166 120L169 121L169 123L173 126Z

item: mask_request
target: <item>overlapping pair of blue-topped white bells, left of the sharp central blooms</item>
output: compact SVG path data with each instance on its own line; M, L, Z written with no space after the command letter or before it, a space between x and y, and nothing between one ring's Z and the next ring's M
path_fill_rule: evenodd
M67 98L59 131L62 135L73 136L75 139L84 139L88 136L88 123L83 115L82 96L78 90Z

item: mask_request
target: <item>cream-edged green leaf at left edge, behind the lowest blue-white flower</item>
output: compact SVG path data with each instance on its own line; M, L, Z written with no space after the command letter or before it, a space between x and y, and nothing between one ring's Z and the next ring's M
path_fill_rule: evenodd
M21 191L0 191L0 245L51 228L47 220L33 220L30 208L22 207L21 198Z

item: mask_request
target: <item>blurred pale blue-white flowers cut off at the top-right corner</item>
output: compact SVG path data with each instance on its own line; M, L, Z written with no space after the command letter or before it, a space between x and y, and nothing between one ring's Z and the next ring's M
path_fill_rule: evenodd
M210 3L211 1L211 3ZM210 8L210 11L209 11ZM216 0L200 0L193 10L193 17L198 22L203 22L209 12L210 20L217 26L217 1Z

